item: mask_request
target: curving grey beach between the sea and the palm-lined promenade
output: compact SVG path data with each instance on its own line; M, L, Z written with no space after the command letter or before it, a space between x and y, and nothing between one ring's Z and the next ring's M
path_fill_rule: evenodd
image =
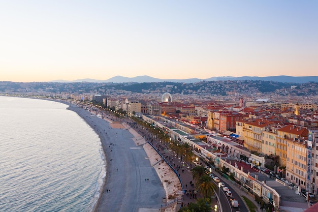
M99 135L105 153L107 172L94 211L176 211L176 201L166 203L181 198L178 177L142 136L105 111L68 105Z

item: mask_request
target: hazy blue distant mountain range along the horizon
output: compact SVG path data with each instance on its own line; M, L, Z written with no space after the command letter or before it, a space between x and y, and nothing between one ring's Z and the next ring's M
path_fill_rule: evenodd
M227 81L227 80L262 80L262 81L273 81L273 82L292 82L292 83L306 83L306 82L318 82L318 76L308 76L308 77L292 77L292 76L269 76L269 77L211 77L207 79L198 79L198 78L190 78L190 79L158 79L150 76L137 76L137 77L122 77L115 76L107 80L96 80L96 79L78 79L74 81L66 81L66 80L54 80L51 82L113 82L113 83L124 83L124 82L183 82L183 83L195 83L200 81Z

